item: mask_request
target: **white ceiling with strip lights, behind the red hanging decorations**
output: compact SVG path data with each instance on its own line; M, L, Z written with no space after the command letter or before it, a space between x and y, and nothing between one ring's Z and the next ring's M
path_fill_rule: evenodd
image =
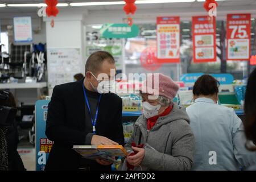
M71 2L99 2L100 0L59 0L59 3L71 3ZM121 1L121 0L105 0L105 1ZM0 3L42 3L44 0L0 0ZM103 2L103 1L101 1ZM228 0L217 1L218 2L218 15L225 17L227 13L251 13L256 18L256 0ZM137 11L135 16L151 16L155 15L184 15L191 17L195 14L205 14L203 8L204 2L181 2L181 3L156 3L156 4L137 4ZM104 14L119 14L123 13L123 5L111 5L111 6L81 6L81 7L58 7L60 11L71 11L76 13L83 13L86 11L93 16L102 16ZM0 18L8 19L11 16L16 15L30 15L34 18L38 17L36 11L38 7L0 7ZM125 13L123 13L125 16ZM219 17L220 17L219 16ZM104 16L103 16L104 17ZM108 16L106 16L108 17ZM105 17L105 18L106 18ZM120 17L119 17L120 18Z

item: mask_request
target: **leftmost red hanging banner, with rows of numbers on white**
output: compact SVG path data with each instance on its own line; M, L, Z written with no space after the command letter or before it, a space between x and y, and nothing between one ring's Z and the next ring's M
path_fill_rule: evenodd
M158 63L180 62L180 18L156 18Z

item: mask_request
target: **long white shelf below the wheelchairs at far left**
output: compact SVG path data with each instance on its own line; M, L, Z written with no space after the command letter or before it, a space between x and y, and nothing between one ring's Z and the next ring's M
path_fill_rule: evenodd
M0 84L0 89L39 89L47 87L47 82Z

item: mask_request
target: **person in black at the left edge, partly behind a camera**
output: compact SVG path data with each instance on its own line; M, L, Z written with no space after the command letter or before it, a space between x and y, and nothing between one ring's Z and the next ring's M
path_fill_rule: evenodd
M0 99L0 106L15 108L16 102L13 94L6 90L1 93L5 95L5 99ZM10 126L0 125L0 171L26 170L17 151L18 142L19 135L15 121Z

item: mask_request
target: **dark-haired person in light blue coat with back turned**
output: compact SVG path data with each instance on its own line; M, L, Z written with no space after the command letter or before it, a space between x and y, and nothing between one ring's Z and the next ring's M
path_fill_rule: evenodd
M193 86L194 104L187 107L196 147L192 170L239 170L256 164L245 148L241 119L234 109L218 105L219 82L203 75Z

